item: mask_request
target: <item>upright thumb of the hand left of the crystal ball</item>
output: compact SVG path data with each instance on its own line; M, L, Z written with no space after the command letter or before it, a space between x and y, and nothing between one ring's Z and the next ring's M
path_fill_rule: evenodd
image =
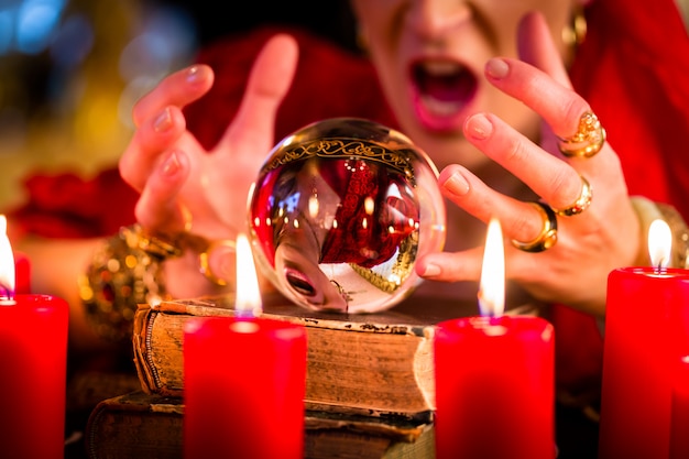
M292 85L297 58L297 43L289 35L277 34L265 44L251 68L237 117L221 143L272 145L275 114Z

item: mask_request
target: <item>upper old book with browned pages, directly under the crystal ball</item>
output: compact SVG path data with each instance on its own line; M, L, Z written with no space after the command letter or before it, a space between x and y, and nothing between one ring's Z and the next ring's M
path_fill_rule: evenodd
M195 316L231 316L233 298L140 305L134 317L134 361L146 393L181 396L183 325ZM435 408L434 324L477 314L475 303L416 298L370 315L306 310L277 296L264 316L307 329L306 406L365 415L416 416Z

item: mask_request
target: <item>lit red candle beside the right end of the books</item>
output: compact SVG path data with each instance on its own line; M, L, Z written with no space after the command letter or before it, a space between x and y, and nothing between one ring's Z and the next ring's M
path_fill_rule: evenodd
M502 250L500 226L491 221L479 293L483 316L447 320L436 330L438 459L556 456L553 326L538 317L502 315ZM491 278L499 280L493 288Z

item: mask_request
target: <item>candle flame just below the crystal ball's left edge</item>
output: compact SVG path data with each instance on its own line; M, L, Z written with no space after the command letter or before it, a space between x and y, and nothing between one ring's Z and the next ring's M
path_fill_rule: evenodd
M237 299L234 314L239 317L256 317L263 312L259 278L253 263L249 239L237 237Z

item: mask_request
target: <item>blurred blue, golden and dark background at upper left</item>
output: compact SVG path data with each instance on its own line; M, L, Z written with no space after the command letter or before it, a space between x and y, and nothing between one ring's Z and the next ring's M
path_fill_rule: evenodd
M356 48L348 0L0 0L0 212L34 173L116 164L138 98L205 43L260 23Z

